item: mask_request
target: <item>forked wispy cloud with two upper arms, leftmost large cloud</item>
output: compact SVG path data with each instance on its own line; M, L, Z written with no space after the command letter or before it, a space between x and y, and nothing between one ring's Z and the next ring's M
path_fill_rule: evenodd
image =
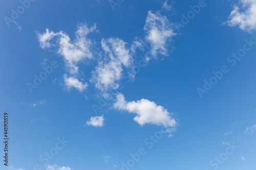
M92 52L90 51L92 41L87 36L95 30L95 24L91 28L88 28L87 25L80 24L75 33L75 40L71 41L69 35L62 31L54 33L53 31L50 32L49 29L46 29L44 34L38 33L38 40L42 48L57 45L58 54L63 56L70 68L70 72L74 74L78 72L78 62L86 58L93 58ZM53 40L55 41L52 42Z

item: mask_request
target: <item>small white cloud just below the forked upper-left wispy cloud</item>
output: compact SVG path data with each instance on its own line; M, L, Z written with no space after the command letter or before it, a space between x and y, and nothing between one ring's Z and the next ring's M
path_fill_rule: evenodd
M67 77L67 75L64 75L64 82L68 89L75 87L80 92L82 92L84 89L87 89L88 86L87 83L82 84L82 82L79 82L79 80L76 78Z

